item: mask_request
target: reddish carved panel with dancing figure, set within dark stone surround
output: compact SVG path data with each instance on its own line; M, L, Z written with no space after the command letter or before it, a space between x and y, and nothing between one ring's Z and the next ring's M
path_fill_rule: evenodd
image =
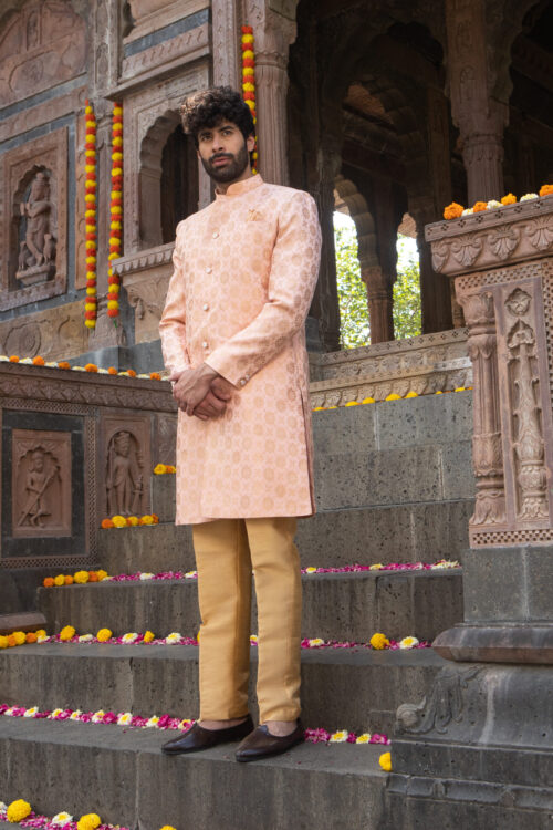
M71 536L71 433L12 432L12 537Z

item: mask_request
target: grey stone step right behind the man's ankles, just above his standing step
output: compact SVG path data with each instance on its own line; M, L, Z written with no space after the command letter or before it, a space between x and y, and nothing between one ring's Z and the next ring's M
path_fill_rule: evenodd
M302 649L306 726L390 734L406 701L428 694L446 664L431 649ZM258 717L258 651L251 649L250 710ZM94 678L91 682L91 678ZM198 647L43 643L0 662L0 703L135 715L198 715Z

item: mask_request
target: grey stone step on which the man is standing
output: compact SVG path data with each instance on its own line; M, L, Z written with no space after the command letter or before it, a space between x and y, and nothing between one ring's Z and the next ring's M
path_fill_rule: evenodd
M155 729L0 718L0 780L46 816L140 830L383 830L380 746L304 744L257 764L236 745L176 758Z

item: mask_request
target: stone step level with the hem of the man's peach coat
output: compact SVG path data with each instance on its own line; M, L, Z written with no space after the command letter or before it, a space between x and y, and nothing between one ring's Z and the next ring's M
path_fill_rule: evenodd
M299 519L303 567L459 559L469 547L473 499L327 510ZM101 530L98 564L111 574L194 570L188 525Z

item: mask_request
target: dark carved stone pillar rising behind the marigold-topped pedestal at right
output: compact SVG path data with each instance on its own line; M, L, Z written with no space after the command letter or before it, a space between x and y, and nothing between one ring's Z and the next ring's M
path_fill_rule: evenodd
M498 61L484 11L484 0L446 3L451 112L461 133L469 205L503 194L509 107L492 94Z

